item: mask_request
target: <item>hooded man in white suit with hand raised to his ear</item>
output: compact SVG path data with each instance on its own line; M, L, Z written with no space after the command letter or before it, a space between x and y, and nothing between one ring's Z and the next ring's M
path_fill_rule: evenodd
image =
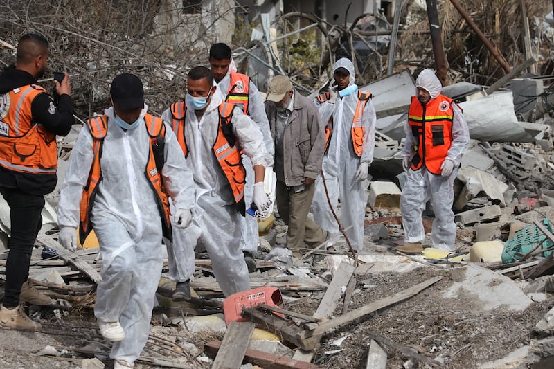
M333 67L334 82L329 91L316 98L316 105L325 124L325 156L323 175L332 206L337 210L341 199L340 220L356 251L364 247L366 186L369 166L375 147L375 109L369 92L358 90L355 70L346 58ZM314 220L331 234L339 232L325 196L321 176L316 181L312 204ZM352 226L351 228L348 228Z

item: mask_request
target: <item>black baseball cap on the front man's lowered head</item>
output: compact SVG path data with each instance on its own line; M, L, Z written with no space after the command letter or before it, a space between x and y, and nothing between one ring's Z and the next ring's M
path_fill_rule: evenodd
M143 82L131 73L116 75L111 82L109 96L121 110L142 109L144 107Z

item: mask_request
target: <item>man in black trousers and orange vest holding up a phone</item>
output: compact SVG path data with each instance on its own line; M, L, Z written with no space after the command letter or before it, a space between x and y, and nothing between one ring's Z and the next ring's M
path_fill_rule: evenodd
M0 327L39 330L22 302L48 305L27 281L33 244L42 227L44 195L57 182L56 135L66 136L73 125L69 75L55 81L57 103L37 85L48 65L48 41L28 33L19 39L15 65L0 74L0 193L10 206L10 252L6 260L6 294ZM19 307L18 307L19 306Z

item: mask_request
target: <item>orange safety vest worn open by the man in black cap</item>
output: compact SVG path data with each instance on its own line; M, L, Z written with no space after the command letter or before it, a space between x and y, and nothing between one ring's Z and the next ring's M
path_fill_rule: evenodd
M107 134L107 116L97 116L87 120L87 126L93 137L93 152L94 159L92 161L89 179L84 186L81 204L80 204L80 225L79 237L81 243L87 238L87 235L92 231L90 224L92 206L94 197L98 191L98 183L102 181L102 168L100 168L100 156L102 156L102 143ZM162 163L156 165L156 158L163 155L163 140L166 136L166 127L163 125L161 118L154 117L150 114L144 116L146 129L150 135L150 152L148 155L148 163L146 163L145 175L150 183L150 187L156 193L156 202L161 217L161 226L163 236L172 240L169 197L165 186L161 179ZM161 141L161 142L160 142Z

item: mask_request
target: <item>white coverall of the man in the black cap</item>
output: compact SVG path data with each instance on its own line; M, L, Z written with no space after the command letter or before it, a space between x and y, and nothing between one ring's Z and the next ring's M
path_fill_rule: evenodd
M100 243L102 281L98 283L94 314L99 321L120 322L123 341L114 342L112 359L134 363L148 339L162 267L162 229L155 194L145 176L150 136L141 123L126 132L109 117L102 146L102 180L94 199L91 224ZM166 123L166 163L163 183L177 208L194 206L191 172L170 125ZM71 151L58 206L58 224L77 228L79 204L93 161L93 138L87 126Z

